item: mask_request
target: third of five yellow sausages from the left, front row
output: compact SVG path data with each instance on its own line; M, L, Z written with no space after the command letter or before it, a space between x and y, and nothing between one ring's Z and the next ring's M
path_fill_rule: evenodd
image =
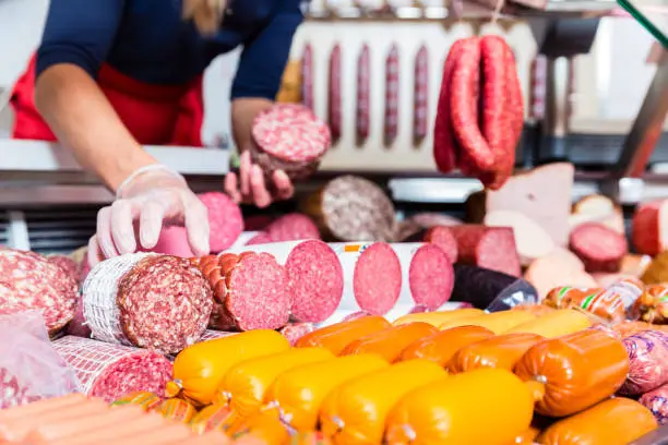
M274 381L265 396L267 406L277 406L284 420L297 431L315 429L324 398L336 386L355 377L386 369L378 354L339 357L286 371Z

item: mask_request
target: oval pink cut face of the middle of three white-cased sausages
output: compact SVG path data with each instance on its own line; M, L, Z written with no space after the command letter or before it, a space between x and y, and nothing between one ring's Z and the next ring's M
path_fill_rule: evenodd
M390 244L377 242L361 253L353 288L362 311L382 315L394 306L402 289L402 266Z

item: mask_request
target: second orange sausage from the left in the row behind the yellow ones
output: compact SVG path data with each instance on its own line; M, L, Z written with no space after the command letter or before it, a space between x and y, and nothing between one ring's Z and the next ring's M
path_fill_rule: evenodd
M410 344L438 332L438 328L428 323L406 323L358 338L346 346L341 354L378 353L392 363Z

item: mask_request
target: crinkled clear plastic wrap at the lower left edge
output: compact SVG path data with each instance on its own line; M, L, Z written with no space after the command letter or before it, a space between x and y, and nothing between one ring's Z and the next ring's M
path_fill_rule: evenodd
M37 311L0 315L0 409L80 390Z

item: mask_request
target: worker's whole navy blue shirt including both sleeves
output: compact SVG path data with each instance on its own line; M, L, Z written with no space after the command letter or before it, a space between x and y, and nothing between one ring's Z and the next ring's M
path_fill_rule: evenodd
M95 77L106 62L141 82L180 85L242 45L231 97L274 99L301 21L299 0L228 0L220 29L205 37L181 19L180 0L51 0L36 74L72 63Z

